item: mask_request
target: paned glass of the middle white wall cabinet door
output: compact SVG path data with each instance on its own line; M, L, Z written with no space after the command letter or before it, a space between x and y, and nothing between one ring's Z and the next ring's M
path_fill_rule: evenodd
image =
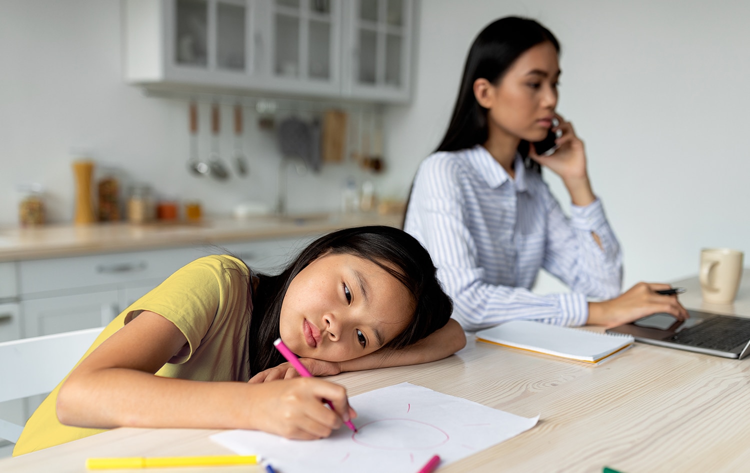
M336 82L336 0L274 0L272 75Z

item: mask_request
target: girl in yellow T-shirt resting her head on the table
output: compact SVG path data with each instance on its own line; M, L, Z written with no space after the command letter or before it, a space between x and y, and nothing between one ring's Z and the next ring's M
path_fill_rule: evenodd
M263 383L279 377L263 371L284 360L273 341L281 337L314 375L451 355L466 339L435 271L418 241L388 226L323 236L278 276L253 274L232 256L197 259L104 329L13 454L113 427L329 436L356 417L346 390L314 378Z

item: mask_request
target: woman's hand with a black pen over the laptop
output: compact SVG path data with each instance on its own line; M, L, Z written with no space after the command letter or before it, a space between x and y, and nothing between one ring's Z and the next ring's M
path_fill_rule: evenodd
M670 286L637 283L609 301L589 302L588 323L611 328L659 312L671 314L677 320L687 319L688 311L679 304L676 295L662 295L656 292L663 289L670 289Z

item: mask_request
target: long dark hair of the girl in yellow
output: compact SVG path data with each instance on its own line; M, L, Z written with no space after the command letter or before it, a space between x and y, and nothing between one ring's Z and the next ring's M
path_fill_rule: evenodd
M410 324L384 347L404 348L448 323L453 304L437 280L429 253L416 238L391 226L338 230L311 243L281 274L258 275L260 283L252 295L251 373L260 373L284 361L273 342L279 337L281 303L294 277L320 256L344 254L374 262L413 295L415 308Z

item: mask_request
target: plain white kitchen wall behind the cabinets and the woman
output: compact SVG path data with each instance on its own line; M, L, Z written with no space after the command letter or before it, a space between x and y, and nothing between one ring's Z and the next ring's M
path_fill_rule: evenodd
M628 285L694 274L700 247L750 249L750 4L740 1L423 0L413 103L387 112L382 193L406 196L445 130L469 44L508 14L539 19L562 43L559 110L586 142ZM71 148L164 193L201 199L211 213L248 199L272 204L279 159L272 133L248 116L248 178L190 177L187 104L124 84L120 48L117 0L0 0L0 226L16 222L15 187L28 181L46 186L51 220L71 220ZM229 118L226 108L223 124ZM205 155L205 103L201 124ZM231 148L226 127L222 149ZM328 166L292 176L292 210L335 208L352 172ZM559 181L545 175L565 205Z

